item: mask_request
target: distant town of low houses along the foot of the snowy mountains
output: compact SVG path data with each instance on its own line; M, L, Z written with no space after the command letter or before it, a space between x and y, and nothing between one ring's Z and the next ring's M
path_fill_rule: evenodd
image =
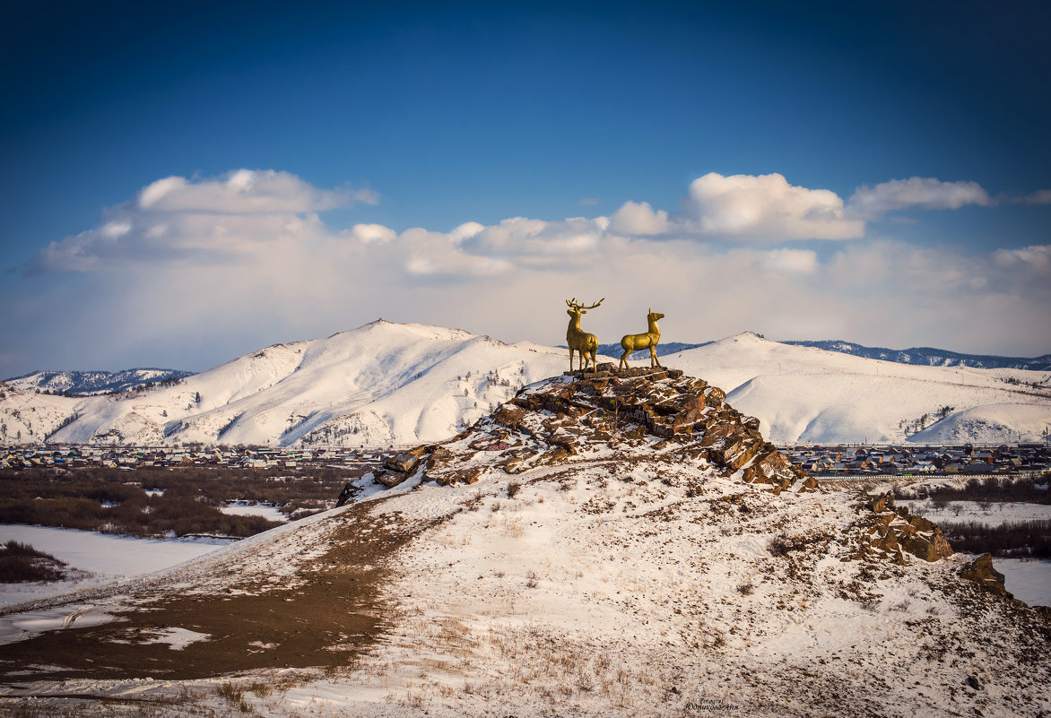
M1029 475L1051 473L1051 446L875 446L792 445L778 447L792 464L818 477ZM386 449L295 449L263 447L86 447L41 446L0 449L0 468L214 466L227 469L302 469L376 465L398 453Z

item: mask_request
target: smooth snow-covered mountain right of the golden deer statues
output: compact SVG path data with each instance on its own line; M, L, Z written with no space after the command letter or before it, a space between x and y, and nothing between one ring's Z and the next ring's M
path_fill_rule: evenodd
M1037 440L1051 426L1051 387L1040 372L879 362L751 332L663 364L721 387L777 443ZM936 420L945 407L952 409ZM926 431L915 433L919 425Z

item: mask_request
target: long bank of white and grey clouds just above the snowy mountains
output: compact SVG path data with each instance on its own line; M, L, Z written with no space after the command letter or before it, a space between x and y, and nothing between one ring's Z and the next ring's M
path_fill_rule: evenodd
M650 306L667 313L668 341L753 329L1025 353L1015 327L1051 334L1051 246L967 257L861 239L816 251L797 241L860 239L864 221L846 219L833 192L781 176L706 175L675 212L626 202L609 218L398 231L331 228L320 213L335 190L281 172L238 175L160 180L106 210L95 229L46 247L35 262L40 271L77 273L38 284L47 288L32 301L8 287L20 333L54 328L56 356L80 352L70 367L203 369L210 365L192 356L205 350L190 353L186 337L217 364L379 315L557 344L562 300L586 295L606 298L589 314L589 330L611 342L644 327L638 308ZM102 347L89 341L91 316L122 331ZM977 324L982 332L959 330ZM98 353L85 355L85 347Z

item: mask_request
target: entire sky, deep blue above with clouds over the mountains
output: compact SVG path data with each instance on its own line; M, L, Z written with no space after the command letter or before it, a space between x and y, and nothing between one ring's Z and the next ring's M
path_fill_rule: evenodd
M593 294L1051 351L1051 7L853 4L5 3L0 375Z

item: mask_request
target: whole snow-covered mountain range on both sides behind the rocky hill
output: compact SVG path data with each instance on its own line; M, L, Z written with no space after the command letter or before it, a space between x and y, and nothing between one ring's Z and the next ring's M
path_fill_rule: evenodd
M1038 440L1051 427L1045 372L895 364L750 332L662 363L725 389L779 443ZM408 446L442 440L566 368L564 349L378 321L143 391L0 387L0 443Z

